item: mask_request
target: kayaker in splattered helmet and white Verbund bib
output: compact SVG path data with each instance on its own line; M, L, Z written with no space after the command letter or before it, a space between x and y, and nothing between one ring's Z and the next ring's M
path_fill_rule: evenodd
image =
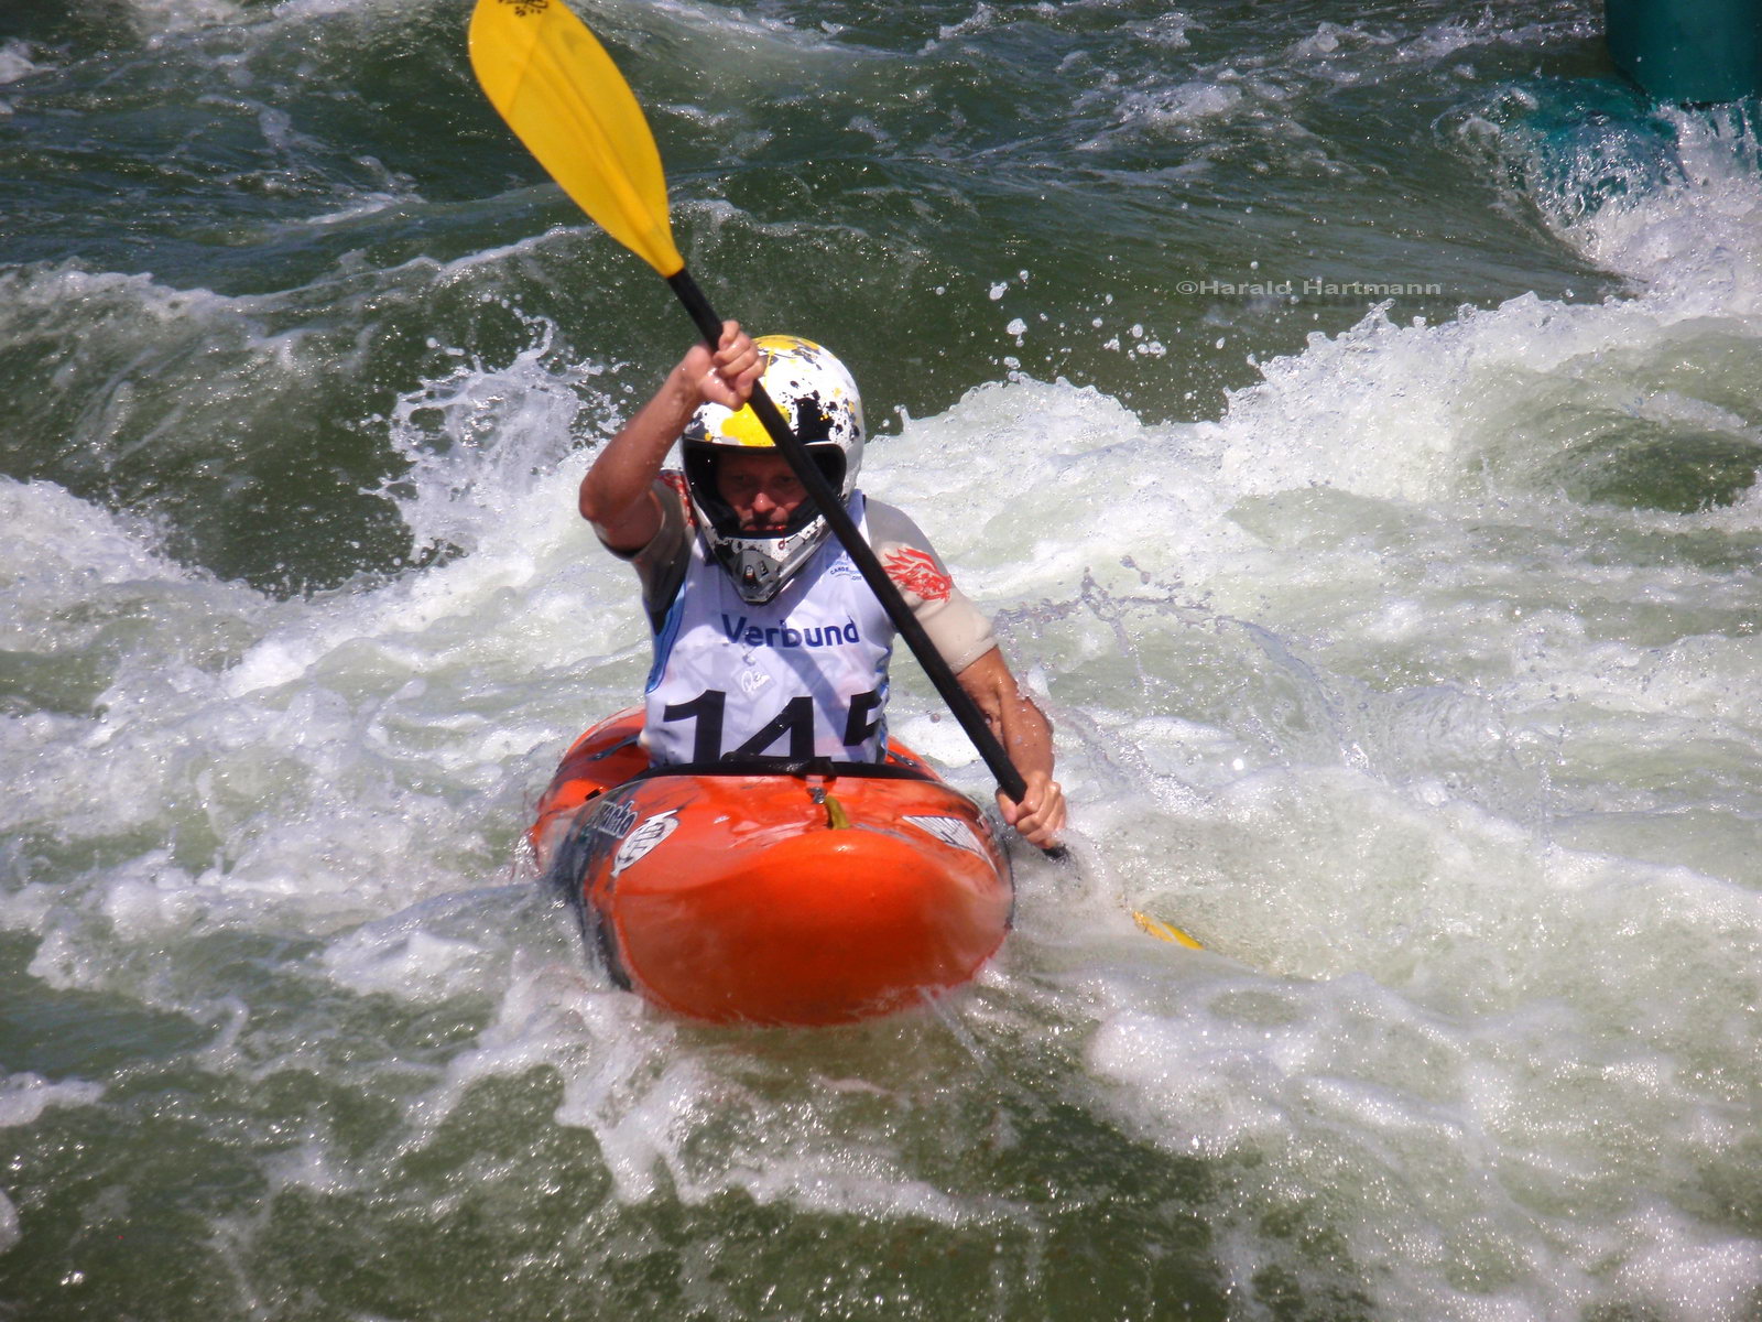
M650 761L886 754L893 622L745 407L761 377L1022 772L1020 804L997 793L1004 821L1054 844L1064 791L1052 724L929 538L856 488L865 432L851 374L818 344L752 340L733 321L714 353L691 347L581 479L581 516L636 568L654 629ZM661 467L675 442L684 472Z

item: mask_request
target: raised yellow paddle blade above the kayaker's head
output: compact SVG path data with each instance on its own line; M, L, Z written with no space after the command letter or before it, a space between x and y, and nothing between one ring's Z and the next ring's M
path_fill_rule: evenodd
M470 67L515 137L583 212L661 275L685 268L643 108L562 0L478 0Z

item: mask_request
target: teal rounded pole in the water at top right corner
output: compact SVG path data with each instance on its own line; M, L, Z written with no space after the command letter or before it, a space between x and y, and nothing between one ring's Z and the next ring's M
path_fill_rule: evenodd
M1762 0L1607 0L1616 69L1660 100L1762 93Z

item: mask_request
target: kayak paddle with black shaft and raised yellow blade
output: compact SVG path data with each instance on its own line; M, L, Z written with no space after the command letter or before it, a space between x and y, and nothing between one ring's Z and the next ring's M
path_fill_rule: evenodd
M722 319L710 308L673 245L661 153L636 95L599 39L562 0L478 0L470 18L470 65L515 137L601 229L655 268L714 349L722 335ZM763 384L752 388L752 411L997 784L1020 802L1027 784L1008 751L930 643L839 494L789 430Z

